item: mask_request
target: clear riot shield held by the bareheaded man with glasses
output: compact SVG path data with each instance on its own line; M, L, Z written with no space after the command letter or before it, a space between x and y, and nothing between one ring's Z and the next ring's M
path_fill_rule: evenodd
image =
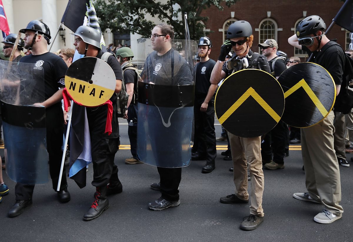
M161 44L161 43L160 43ZM169 44L169 46L168 46ZM144 163L158 167L190 164L197 43L172 40L163 48L151 39L138 40L137 154Z

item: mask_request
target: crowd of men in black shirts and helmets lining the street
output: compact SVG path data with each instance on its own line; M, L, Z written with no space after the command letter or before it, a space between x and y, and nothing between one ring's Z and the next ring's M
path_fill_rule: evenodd
M288 42L292 46L303 49L308 54L313 54L312 61L322 65L331 73L338 95L340 89L342 89L345 51L325 36L325 29L326 25L319 16L309 16L298 24L297 34L289 37ZM60 100L65 87L65 73L72 63L74 52L72 49L62 49L59 56L49 53L47 47L51 38L50 31L48 26L40 21L31 21L20 32L25 37L23 40L20 39L11 60L34 64L41 61L45 78L45 93L43 94L45 101L38 105L46 108L50 176L53 189L56 191L60 175L62 136L64 134L64 124L67 124L67 116L64 116L64 119L62 118L63 111ZM230 170L233 171L235 193L221 197L220 202L249 203L250 200L249 216L244 218L240 228L253 230L263 222L264 174L262 169L263 167L269 170L284 169L284 158L289 155L289 143L301 143L307 189L303 193L294 193L293 197L302 201L321 203L324 208L314 217L314 220L323 224L332 223L341 218L343 213L343 208L339 205L341 201L339 164L345 167L349 166L345 154L353 153L352 112L344 115L333 110L319 124L305 129L288 128L286 123L280 121L274 129L264 136L245 138L225 132L224 138L216 138L214 101L218 84L223 79L241 69L263 70L278 79L288 67L300 63L298 57L290 57L288 60L286 56L283 58L283 53L278 51L279 46L273 39L268 39L258 45L262 54L253 52L251 50L253 44L252 33L253 28L250 23L240 20L229 26L227 40L220 49L213 47L208 37L201 37L198 41L199 61L197 61L195 67L191 68L185 58L173 49L173 28L165 24L158 24L151 32L154 52L148 55L142 73L132 64L134 54L128 47L117 49L116 57L110 55L107 58L106 62L113 69L116 79L115 93L110 98L113 110L117 108L116 93L120 92L122 81L125 82L126 92L129 95L124 118L127 119L129 124L128 136L132 157L127 158L125 163L143 163L136 148L138 81L162 85L175 85L175 83L177 85L192 85L195 78L193 105L195 135L191 159L205 160L206 163L201 170L203 173L210 173L216 167L216 140L228 141L229 150L224 152L223 155L233 160L233 167ZM17 35L11 34L2 42L4 43L5 57L10 57L16 38ZM95 29L89 26L80 26L74 33L74 40L74 47L79 54L85 57L102 58L101 34ZM31 54L22 57L20 51L23 48L30 48ZM211 48L213 51L220 53L217 61L209 58ZM352 50L347 50L346 53L353 57ZM246 59L247 65L238 65L238 67L229 70L225 62L227 59ZM171 69L163 68L160 70L161 63L170 60L172 60L172 67L169 67ZM182 77L180 75L174 76L174 69L178 69L183 74ZM170 75L170 72L172 72L171 80L163 78ZM83 219L92 220L100 216L109 207L108 195L122 191L122 185L118 178L118 167L114 164L114 156L119 146L119 123L116 112L113 111L112 133L108 134L106 132L107 105L86 107L85 110L84 107L79 105L75 105L74 108L77 114L72 116L73 120L86 113L89 124L91 158L94 170L92 185L96 187L96 191L94 194L95 200L88 212L84 214ZM154 112L153 108L150 112ZM67 115L67 111L64 111L64 115ZM345 126L347 129L344 128ZM58 129L58 127L60 128ZM345 141L347 134L349 142ZM153 136L150 138L151 140L156 139ZM177 137L175 138L178 140ZM170 139L173 139L173 137L170 137ZM159 144L158 147L163 147L162 142L163 140L155 141L156 144ZM346 146L347 143L348 147ZM155 149L155 153L162 152L162 150L159 150L161 148L158 147L152 147L152 149ZM179 206L179 183L182 165L166 166L166 158L158 157L158 155L156 155L156 160L160 181L152 183L151 188L161 191L161 197L150 202L148 206L155 211ZM247 191L248 181L251 182L250 194ZM34 187L32 184L16 184L16 202L8 212L9 217L20 215L26 207L31 205ZM8 187L0 176L0 195L6 195L8 191ZM60 202L70 201L65 169L62 172L61 186L57 195Z

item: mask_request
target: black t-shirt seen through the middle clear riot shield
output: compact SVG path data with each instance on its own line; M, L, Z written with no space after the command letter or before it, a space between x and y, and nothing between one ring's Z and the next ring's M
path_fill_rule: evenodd
M193 78L189 65L174 49L164 55L154 51L148 55L141 77L144 82L158 85L192 85Z

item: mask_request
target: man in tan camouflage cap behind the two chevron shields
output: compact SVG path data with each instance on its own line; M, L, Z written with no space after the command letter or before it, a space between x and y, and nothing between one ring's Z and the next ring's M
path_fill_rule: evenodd
M276 79L287 69L285 61L277 55L277 41L273 39L265 40L258 45L262 54L267 58L270 65L271 75ZM286 155L286 144L289 140L288 125L282 120L268 132L261 143L262 164L268 170L285 168L283 158Z

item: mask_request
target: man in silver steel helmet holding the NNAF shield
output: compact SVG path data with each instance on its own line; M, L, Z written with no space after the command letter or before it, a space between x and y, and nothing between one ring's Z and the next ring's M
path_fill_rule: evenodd
M74 35L75 42L73 45L79 54L99 59L102 57L100 32L89 26L80 26ZM121 193L122 191L122 185L118 178L118 167L114 164L115 153L119 149L116 93L119 93L121 90L122 71L114 55L108 57L107 64L112 67L116 78L115 93L110 98L113 104L112 133L110 135L104 133L108 112L107 105L86 107L93 163L92 185L96 187L96 193L95 201L83 216L83 220L85 221L97 218L104 210L108 209L109 201L107 195Z

